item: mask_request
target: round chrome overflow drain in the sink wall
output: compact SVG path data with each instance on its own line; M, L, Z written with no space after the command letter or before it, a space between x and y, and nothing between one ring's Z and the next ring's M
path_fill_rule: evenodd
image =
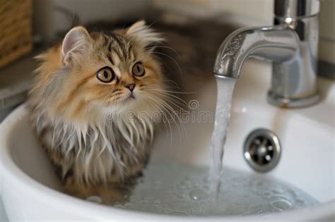
M245 160L255 171L271 171L281 157L281 144L271 130L257 129L245 140Z

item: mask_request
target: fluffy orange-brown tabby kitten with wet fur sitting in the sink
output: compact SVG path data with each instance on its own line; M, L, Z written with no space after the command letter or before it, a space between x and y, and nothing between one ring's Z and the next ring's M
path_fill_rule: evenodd
M37 135L66 187L120 183L150 153L164 80L153 56L163 41L142 20L124 30L72 28L44 54L29 104Z

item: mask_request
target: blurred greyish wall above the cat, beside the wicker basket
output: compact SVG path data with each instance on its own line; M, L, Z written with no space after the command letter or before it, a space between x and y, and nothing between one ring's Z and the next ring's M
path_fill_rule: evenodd
M34 33L51 40L71 26L74 14L82 23L92 20L138 18L148 11L149 0L34 0Z

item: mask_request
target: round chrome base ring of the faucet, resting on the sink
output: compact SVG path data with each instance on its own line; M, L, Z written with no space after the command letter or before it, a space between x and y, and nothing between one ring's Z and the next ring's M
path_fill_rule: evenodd
M283 108L300 108L317 104L320 101L320 95L319 93L316 93L312 96L304 97L301 99L288 99L284 97L279 97L277 94L274 94L274 92L269 91L267 100L269 101L269 104L272 104L274 106L279 106Z

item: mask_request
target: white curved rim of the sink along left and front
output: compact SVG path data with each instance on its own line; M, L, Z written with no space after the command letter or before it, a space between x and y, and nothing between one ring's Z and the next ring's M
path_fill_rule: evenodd
M69 211L69 206L71 206L71 214L76 216L84 215L84 218L106 220L113 216L115 220L124 220L131 218L141 218L141 220L157 221L157 220L168 220L168 221L231 221L231 220L263 220L263 219L318 219L324 218L325 216L334 216L335 209L335 199L330 202L322 203L317 206L311 206L304 209L295 209L290 211L279 212L278 214L262 214L262 215L252 215L252 216L174 216L174 215L159 215L150 212L141 211L130 211L127 209L117 209L112 206L105 206L101 204L95 204L83 199L78 199L70 195L66 195L57 190L53 190L46 185L43 185L30 175L24 173L19 166L13 161L11 156L11 147L9 146L9 136L14 125L18 124L21 118L28 115L28 110L25 104L19 106L15 111L13 111L0 125L0 178L1 185L0 191L6 192L4 185L6 183L13 184L16 187L20 187L29 195L38 198L40 202L48 202L54 206L54 209L59 209L64 212ZM35 196L34 196L35 195ZM6 199L4 200L4 205L6 208ZM8 206L7 206L8 207ZM86 211L90 209L90 211ZM92 214L92 212L98 214ZM87 212L87 213L86 213ZM95 216L92 216L95 215ZM9 216L9 215L8 215ZM47 215L46 215L47 216Z

